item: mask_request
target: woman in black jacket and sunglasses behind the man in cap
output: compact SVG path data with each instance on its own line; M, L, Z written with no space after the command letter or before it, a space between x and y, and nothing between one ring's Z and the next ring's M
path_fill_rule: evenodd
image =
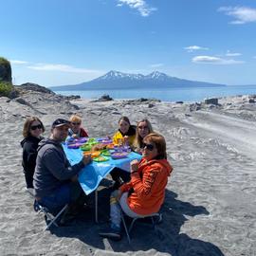
M23 127L21 146L23 148L22 166L24 169L27 189L33 189L33 174L35 172L38 143L44 138L43 122L36 117L26 119Z

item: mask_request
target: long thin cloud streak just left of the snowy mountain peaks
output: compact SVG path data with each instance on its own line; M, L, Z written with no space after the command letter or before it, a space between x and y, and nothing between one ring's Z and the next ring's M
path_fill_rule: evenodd
M30 69L34 70L43 70L43 71L61 71L68 73L99 73L99 70L92 70L86 68L78 68L67 64L34 64L27 66Z

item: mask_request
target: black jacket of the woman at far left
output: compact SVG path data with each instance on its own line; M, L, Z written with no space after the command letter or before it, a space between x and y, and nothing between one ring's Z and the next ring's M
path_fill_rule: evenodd
M33 174L36 165L36 156L38 143L43 139L43 137L25 137L21 141L21 146L23 148L22 155L22 166L25 173Z

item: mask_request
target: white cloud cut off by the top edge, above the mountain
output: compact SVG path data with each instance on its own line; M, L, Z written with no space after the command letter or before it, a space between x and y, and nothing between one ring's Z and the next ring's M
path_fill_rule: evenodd
M118 0L118 7L123 5L129 6L131 9L137 9L141 16L149 16L156 8L150 8L145 0Z

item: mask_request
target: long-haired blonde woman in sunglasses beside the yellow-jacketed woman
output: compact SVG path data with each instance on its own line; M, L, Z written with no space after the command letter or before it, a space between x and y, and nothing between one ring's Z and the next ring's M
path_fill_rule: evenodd
M142 119L137 122L136 137L132 145L133 151L142 154L144 148L143 138L153 133L153 128L148 119Z

